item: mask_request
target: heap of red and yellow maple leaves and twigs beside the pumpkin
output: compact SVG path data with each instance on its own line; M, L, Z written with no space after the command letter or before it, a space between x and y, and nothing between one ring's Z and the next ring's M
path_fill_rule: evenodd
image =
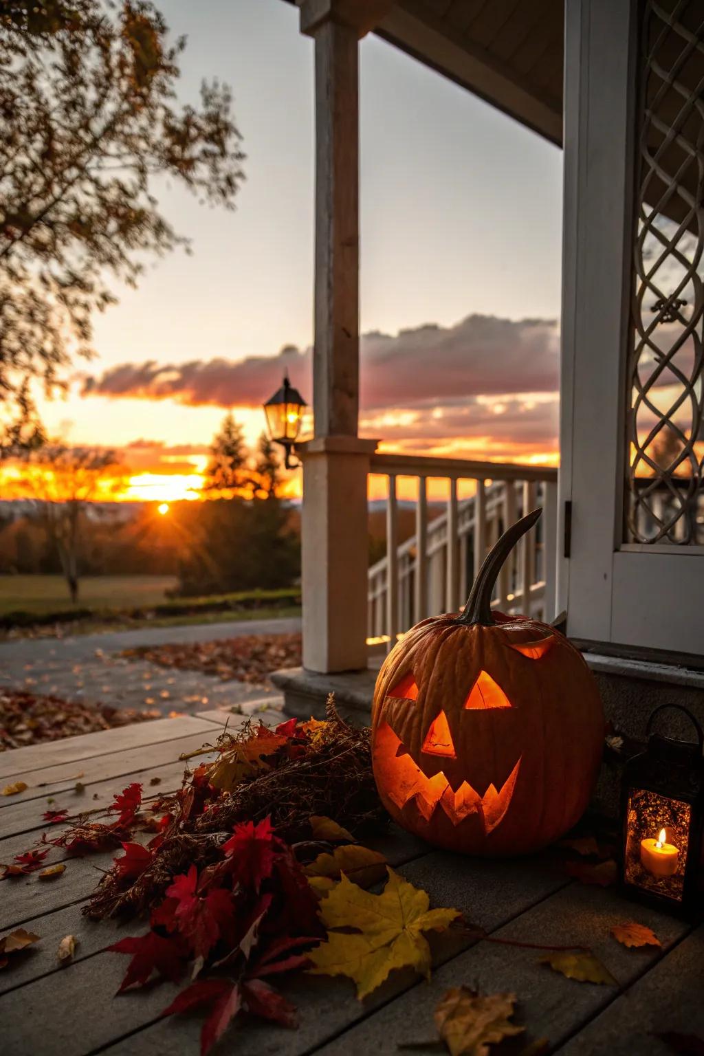
M394 968L430 974L423 932L459 914L431 909L424 891L357 842L387 823L368 730L348 727L330 702L326 721L248 722L194 755L206 753L176 793L149 798L131 784L104 816L87 812L43 835L70 854L121 848L84 910L148 919L110 947L130 958L118 994L183 980L163 1015L205 1010L205 1054L241 1012L296 1025L277 987L286 973L346 975L360 998ZM50 825L66 822L56 813ZM46 850L5 870L39 869ZM384 879L380 894L365 890Z

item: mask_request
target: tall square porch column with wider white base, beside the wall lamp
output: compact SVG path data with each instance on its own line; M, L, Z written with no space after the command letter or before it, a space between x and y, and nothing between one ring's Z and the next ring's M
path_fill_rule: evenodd
M366 667L366 479L359 412L358 42L388 0L298 0L316 50L315 436L303 446L303 665Z

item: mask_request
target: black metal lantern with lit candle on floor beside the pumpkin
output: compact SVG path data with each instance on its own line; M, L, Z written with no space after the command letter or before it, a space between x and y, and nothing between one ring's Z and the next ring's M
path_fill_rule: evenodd
M697 742L652 733L655 716L684 712ZM624 769L622 881L627 894L684 917L701 911L704 732L686 708L662 704L646 730L645 752Z

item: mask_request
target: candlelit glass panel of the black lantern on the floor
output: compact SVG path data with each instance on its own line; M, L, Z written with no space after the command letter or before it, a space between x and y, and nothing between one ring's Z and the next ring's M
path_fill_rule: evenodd
M682 902L690 805L649 789L631 789L627 810L625 882Z

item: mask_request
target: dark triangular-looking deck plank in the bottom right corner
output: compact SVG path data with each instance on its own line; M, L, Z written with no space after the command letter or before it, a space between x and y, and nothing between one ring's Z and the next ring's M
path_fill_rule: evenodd
M563 1045L560 1056L671 1056L672 1049L658 1034L673 1032L704 1038L703 963L701 926Z

